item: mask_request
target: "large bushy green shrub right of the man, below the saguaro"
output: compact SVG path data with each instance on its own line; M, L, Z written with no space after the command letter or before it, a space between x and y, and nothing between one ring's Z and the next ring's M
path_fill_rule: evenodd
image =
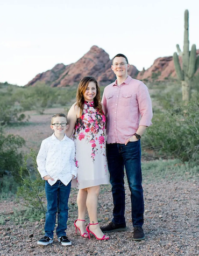
M190 102L155 114L153 126L145 133L143 147L167 158L199 163L199 103Z

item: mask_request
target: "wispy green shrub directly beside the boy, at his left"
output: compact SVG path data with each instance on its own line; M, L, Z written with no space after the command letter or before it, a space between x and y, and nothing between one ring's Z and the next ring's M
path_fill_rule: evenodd
M35 151L31 150L30 154L24 157L24 165L20 168L19 176L22 186L18 188L17 196L23 198L23 205L44 213L45 181L41 179L37 170Z

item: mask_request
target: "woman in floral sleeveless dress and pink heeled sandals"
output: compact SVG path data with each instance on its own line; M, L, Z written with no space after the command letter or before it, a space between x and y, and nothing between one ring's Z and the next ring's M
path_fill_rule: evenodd
M97 202L100 185L108 184L108 169L105 154L105 115L100 102L100 88L93 77L84 77L77 88L76 102L68 112L69 129L67 136L74 131L76 147L78 219L76 231L82 237L94 234L98 240L107 240L97 220ZM72 186L74 181L72 182ZM88 210L90 224L85 226ZM88 232L88 233L87 233Z

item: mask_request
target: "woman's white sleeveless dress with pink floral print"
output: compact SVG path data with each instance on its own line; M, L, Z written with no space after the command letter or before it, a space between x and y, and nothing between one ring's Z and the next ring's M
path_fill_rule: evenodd
M94 102L85 101L73 135L77 166L77 179L73 180L73 187L84 189L109 183L104 129L105 115L94 108Z

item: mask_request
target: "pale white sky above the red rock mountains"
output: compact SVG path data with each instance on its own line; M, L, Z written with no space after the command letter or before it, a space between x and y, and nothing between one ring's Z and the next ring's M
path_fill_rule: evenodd
M199 49L196 0L0 0L0 82L25 85L58 63L75 63L93 45L123 53L139 71L183 49Z

